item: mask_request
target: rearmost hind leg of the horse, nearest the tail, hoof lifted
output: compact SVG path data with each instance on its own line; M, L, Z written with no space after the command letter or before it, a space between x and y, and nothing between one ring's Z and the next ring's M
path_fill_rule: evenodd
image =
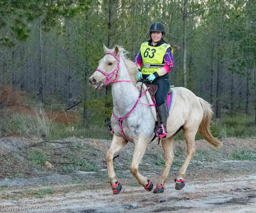
M180 168L177 179L175 180L176 182L175 189L177 190L181 190L185 186L184 176L185 176L186 169L189 165L189 162L192 159L193 155L195 154L195 135L197 130L198 129L196 127L183 128L183 132L186 140L187 152L186 152L186 159L182 167Z

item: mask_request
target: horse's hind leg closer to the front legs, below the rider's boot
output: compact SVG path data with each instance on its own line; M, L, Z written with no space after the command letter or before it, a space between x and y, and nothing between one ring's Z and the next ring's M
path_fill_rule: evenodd
M162 147L165 153L165 165L164 165L161 177L159 179L159 184L157 184L153 193L163 193L163 190L164 190L163 185L169 174L169 170L170 170L170 167L172 166L172 161L174 158L174 153L172 148L173 141L174 141L174 136L172 136L171 138L162 139Z

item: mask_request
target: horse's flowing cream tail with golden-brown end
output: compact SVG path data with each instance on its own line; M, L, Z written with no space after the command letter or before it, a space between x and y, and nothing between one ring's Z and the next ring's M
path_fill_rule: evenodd
M210 132L210 122L213 115L211 104L199 97L198 100L200 101L201 107L204 110L204 116L199 126L199 132L203 136L203 138L207 140L210 144L215 147L220 147L222 145L222 142L214 138Z

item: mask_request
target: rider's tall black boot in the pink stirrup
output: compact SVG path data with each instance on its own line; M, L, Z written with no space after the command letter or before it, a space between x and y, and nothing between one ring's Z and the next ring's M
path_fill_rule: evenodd
M159 113L159 117L162 125L157 127L156 136L159 138L166 138L166 135L167 135L166 124L167 124L167 118L169 115L166 103L158 106L158 113Z

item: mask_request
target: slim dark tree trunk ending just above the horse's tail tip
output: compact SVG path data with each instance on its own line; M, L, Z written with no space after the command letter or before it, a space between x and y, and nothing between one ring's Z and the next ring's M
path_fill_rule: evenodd
M216 86L216 118L221 118L221 44L218 39L217 86Z

